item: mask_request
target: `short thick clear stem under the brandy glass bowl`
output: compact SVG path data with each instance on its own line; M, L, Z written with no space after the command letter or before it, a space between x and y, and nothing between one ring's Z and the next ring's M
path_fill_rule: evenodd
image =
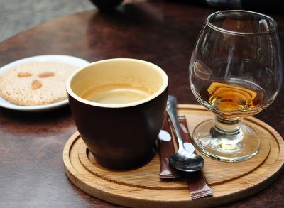
M240 119L229 120L216 116L210 133L219 142L220 148L238 148L238 143L244 138L240 121Z

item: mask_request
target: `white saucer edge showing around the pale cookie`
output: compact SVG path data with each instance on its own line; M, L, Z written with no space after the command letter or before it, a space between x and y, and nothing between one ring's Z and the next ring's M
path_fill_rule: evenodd
M76 65L79 67L84 67L85 65L88 65L89 62L87 60L83 60L81 58L77 58L70 55L38 55L33 56L30 58L24 58L21 60L16 60L14 62L9 63L8 65L5 65L4 67L0 68L0 74L5 72L6 70L9 70L11 67L14 67L16 65L20 65L25 62L61 62L66 63L70 65ZM0 97L0 106L6 108L6 109L13 109L17 111L48 111L51 109L57 109L61 106L65 106L68 104L68 99L62 100L60 102L55 102L53 104L46 104L42 106L19 106L16 104L12 104L11 102L6 101L6 99L3 99Z

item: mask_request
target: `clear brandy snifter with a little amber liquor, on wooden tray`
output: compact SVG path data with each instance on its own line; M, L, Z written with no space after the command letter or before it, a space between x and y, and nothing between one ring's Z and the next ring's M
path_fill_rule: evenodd
M241 119L265 109L280 91L283 60L275 21L252 11L212 13L189 69L195 98L215 114L195 128L197 149L227 162L256 155L260 136Z

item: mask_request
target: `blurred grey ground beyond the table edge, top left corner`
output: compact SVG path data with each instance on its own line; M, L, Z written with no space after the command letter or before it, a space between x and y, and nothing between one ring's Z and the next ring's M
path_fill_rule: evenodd
M89 0L0 0L0 42L53 18L91 9Z

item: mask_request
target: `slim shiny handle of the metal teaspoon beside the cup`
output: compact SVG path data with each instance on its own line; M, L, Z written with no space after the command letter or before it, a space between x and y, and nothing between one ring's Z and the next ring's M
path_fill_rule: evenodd
M173 123L173 128L175 130L175 135L178 138L178 152L185 150L182 141L182 135L180 133L180 127L178 126L178 119L177 119L177 99L172 95L168 95L168 102L167 102L167 112L170 116L170 120Z

